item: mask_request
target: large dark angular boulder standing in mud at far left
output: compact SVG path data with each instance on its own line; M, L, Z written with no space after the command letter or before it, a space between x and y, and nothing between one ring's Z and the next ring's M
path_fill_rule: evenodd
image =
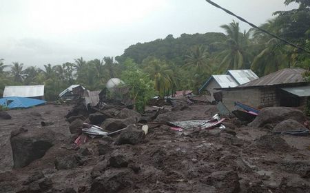
M11 146L14 168L25 167L32 161L45 155L61 134L56 134L49 128L19 130L11 133Z

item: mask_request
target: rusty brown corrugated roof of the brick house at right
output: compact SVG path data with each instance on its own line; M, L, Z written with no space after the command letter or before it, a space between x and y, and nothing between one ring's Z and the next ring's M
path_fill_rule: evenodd
M261 77L254 81L239 85L238 87L252 87L252 86L264 86L264 85L280 85L284 83L302 83L307 82L307 80L302 77L302 74L306 70L302 68L285 68L277 72Z

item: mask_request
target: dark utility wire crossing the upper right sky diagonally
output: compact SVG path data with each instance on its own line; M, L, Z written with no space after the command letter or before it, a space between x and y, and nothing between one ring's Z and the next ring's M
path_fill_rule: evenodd
M271 32L268 32L267 30L264 30L264 29L262 29L262 28L259 28L258 26L254 25L253 23L250 23L249 21L243 19L242 17L240 17L240 16L234 14L233 12L231 12L231 11L225 9L225 8L222 8L221 6L219 6L218 4L214 3L213 1L210 1L210 0L205 0L205 1L207 1L208 3L210 3L212 6L215 6L216 8L220 8L221 10L224 10L224 11L227 12L228 14L231 14L232 16L234 16L234 17L240 19L241 21L243 21L243 22L249 24L249 26L252 26L253 28L256 28L256 29L258 29L258 30L260 30L260 31L262 31L262 32L265 32L266 34L269 34L271 37L274 37L274 38L276 38L276 39L280 39L280 41L283 41L283 42L285 42L285 43L287 43L287 44L293 46L294 48L298 48L299 50L302 50L302 51L307 52L308 54L310 54L310 51L309 51L309 50L305 50L304 48L301 48L301 47L298 46L298 45L295 45L295 44L293 44L293 43L291 43L291 42L289 42L289 41L287 41L287 40L285 40L285 39L282 39L281 37L278 37L276 34L272 34Z

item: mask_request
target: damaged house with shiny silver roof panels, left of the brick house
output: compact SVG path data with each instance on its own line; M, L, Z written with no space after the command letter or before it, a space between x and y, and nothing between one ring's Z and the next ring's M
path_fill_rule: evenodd
M258 76L252 70L227 70L226 74L212 75L198 92L207 92L207 99L212 102L216 100L214 96L221 97L218 88L234 88L255 79L258 79Z

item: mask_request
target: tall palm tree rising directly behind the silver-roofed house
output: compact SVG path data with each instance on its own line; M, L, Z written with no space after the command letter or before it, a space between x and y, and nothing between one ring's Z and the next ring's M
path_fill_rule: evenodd
M242 34L240 32L239 23L236 21L220 27L226 31L228 39L225 42L227 50L219 54L219 57L222 58L219 71L223 72L229 69L249 68L249 54L245 52L249 32Z

